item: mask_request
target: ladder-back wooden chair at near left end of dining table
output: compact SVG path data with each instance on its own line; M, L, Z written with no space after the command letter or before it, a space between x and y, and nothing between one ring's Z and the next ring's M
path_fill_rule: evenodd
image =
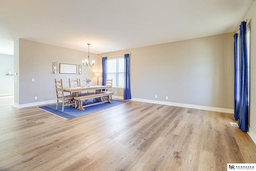
M57 95L56 109L58 109L59 103L62 103L62 111L64 111L64 106L70 106L75 104L74 98L72 95L64 96L62 79L60 79L60 81L57 81L56 79L54 79L54 81L55 81L55 89L56 89L56 95Z

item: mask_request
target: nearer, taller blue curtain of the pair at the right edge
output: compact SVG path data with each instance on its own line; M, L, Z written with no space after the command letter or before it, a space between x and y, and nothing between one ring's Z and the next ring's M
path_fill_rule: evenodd
M239 128L248 131L248 58L246 41L246 22L240 25L240 99Z

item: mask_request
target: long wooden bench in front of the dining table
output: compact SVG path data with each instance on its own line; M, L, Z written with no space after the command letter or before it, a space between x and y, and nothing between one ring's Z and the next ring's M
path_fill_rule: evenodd
M100 103L111 103L109 96L113 95L114 93L112 92L106 92L106 93L98 93L98 94L90 94L90 95L80 95L80 96L76 96L74 97L75 100L75 108L76 109L80 109L80 110L84 110L84 107L88 107L88 106L92 106L92 105L97 105ZM92 104L88 104L88 105L83 105L82 101L83 100L88 100L88 99L95 99L95 98L100 98L100 97L104 97L103 101L100 102L96 102L96 103L92 103ZM107 97L107 100L105 101L105 97ZM79 101L79 106L77 106L77 102Z

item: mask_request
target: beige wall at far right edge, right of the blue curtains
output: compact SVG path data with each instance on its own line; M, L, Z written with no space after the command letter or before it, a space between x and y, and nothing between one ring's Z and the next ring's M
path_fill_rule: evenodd
M249 109L249 134L256 143L256 1L244 17L252 19L250 23L250 109Z

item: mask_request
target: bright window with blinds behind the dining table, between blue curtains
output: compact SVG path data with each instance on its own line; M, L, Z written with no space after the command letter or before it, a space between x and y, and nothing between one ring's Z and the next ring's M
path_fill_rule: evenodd
M112 87L124 88L124 58L107 59L107 79L111 78Z

